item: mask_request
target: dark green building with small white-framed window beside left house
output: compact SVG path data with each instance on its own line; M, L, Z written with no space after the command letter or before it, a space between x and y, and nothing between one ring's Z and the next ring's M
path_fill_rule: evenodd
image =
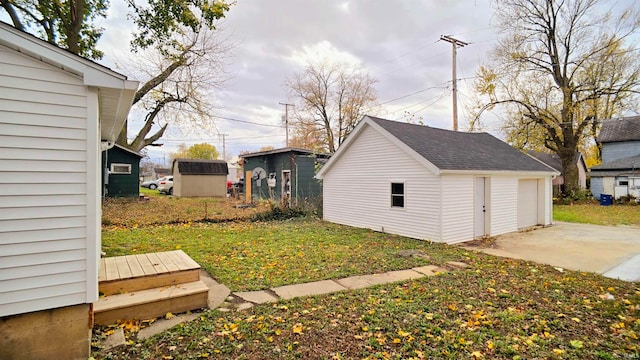
M115 145L102 152L103 196L138 197L140 195L140 159L143 156Z

